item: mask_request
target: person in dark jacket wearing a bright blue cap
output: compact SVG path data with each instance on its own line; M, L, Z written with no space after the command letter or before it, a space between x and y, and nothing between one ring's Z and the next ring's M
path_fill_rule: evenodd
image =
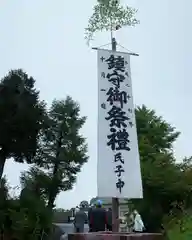
M92 232L103 232L107 226L107 214L102 208L102 201L97 200L96 208L93 208L90 213L90 225Z

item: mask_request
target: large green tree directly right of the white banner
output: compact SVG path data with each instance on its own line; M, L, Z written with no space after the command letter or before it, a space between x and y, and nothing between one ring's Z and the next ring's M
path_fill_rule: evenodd
M186 196L183 172L173 155L173 143L179 132L145 106L137 108L135 113L144 198L133 202L147 227L158 231L173 203Z

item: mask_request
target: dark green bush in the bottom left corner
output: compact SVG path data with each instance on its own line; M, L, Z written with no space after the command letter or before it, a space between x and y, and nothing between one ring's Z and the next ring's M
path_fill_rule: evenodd
M30 198L8 199L0 205L0 226L5 236L18 240L38 240L52 224L52 212L31 192Z

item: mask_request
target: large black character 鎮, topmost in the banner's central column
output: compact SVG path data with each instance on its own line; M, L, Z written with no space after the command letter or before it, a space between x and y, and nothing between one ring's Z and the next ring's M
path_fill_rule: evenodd
M108 63L108 69L113 69L117 71L125 71L125 62L124 57L111 55L108 59L105 60Z

